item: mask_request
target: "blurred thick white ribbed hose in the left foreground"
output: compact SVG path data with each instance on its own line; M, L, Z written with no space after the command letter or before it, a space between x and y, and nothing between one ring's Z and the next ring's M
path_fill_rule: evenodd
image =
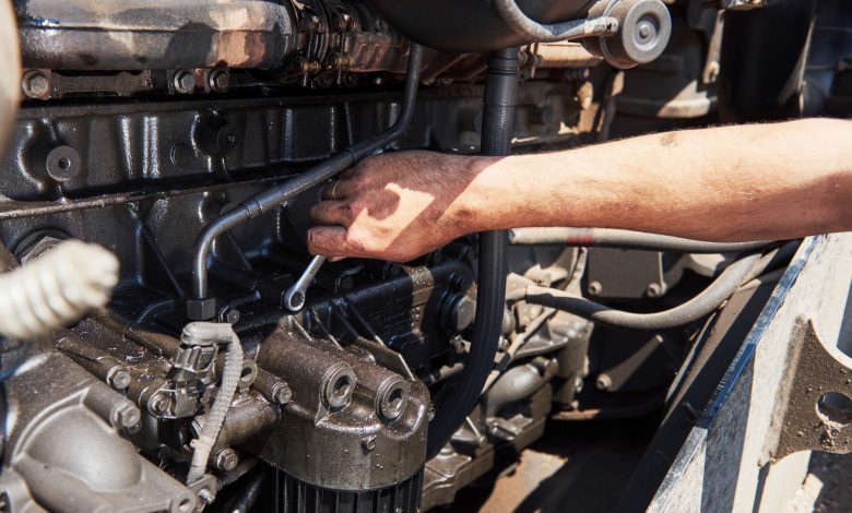
M79 240L61 242L0 275L0 335L28 339L50 333L106 305L116 283L113 253Z

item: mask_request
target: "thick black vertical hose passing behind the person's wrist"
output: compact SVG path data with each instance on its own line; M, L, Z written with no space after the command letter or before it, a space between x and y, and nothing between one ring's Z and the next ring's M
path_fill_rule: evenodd
M483 98L482 154L500 156L511 152L514 104L518 99L518 49L496 50L488 59ZM476 317L471 350L464 372L450 398L442 402L429 426L427 454L441 450L473 410L494 367L506 308L505 230L480 234Z

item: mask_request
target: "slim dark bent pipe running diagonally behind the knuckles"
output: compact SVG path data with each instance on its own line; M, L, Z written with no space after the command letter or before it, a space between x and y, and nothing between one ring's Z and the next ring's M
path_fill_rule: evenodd
M204 227L196 239L192 249L193 299L189 300L187 308L187 313L190 315L190 319L208 320L215 314L214 305L208 305L206 308L191 308L191 303L198 301L212 302L212 299L208 298L208 255L210 254L210 248L216 237L239 224L277 207L294 195L305 192L322 181L328 180L362 158L372 154L376 150L383 148L402 135L405 129L409 128L409 124L411 124L411 119L414 114L422 60L423 47L412 43L409 52L409 70L407 76L405 77L402 109L397 121L388 130L332 155L328 159L285 183L274 186L263 192L255 194Z

